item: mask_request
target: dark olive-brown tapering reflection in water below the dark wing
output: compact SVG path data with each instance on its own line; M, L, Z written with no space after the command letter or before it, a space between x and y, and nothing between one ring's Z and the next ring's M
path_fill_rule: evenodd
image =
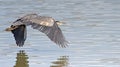
M17 53L16 57L17 61L14 67L29 67L28 64L28 55L26 55L24 50L20 50L19 53Z

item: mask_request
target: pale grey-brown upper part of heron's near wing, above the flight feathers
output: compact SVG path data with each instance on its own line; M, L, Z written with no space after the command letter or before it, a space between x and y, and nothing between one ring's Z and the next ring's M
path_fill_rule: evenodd
M38 16L37 14L28 14L26 16L21 17L17 21L21 21L23 24L26 25L31 25L34 23L49 27L54 25L54 19L52 17Z

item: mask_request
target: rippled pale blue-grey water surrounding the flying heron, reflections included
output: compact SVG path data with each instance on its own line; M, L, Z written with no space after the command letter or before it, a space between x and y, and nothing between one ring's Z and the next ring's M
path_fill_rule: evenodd
M0 0L0 67L119 67L120 0ZM4 29L30 13L52 16L68 48L28 27L24 47Z

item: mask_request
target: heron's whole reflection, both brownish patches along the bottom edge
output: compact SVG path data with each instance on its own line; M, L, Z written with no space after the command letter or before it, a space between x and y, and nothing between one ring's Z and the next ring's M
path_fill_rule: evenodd
M14 67L29 67L29 61L28 61L28 55L25 53L24 50L20 50L19 53L17 53L16 57L16 63ZM57 58L56 61L52 62L52 65L50 67L68 67L68 56L60 56Z

